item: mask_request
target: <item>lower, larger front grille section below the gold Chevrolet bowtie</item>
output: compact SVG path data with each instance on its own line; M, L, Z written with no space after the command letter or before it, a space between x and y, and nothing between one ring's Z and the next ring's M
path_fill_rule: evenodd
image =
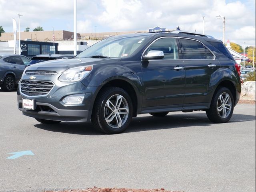
M43 96L47 95L54 87L51 81L32 81L21 80L20 92L27 96Z

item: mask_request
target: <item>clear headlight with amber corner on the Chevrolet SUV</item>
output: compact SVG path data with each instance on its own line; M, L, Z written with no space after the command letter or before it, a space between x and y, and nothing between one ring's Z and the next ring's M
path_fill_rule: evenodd
M92 71L92 66L80 66L70 68L59 77L62 82L74 82L80 81L82 78L86 77Z

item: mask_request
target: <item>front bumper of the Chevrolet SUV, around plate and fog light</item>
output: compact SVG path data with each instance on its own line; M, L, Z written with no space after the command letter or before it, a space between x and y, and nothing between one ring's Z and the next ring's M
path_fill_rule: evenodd
M26 116L47 120L90 122L96 87L86 87L82 82L58 83L46 96L26 96L20 92L19 87L18 109ZM62 102L65 96L73 94L85 94L82 104L66 105ZM34 99L36 109L23 109L22 98Z

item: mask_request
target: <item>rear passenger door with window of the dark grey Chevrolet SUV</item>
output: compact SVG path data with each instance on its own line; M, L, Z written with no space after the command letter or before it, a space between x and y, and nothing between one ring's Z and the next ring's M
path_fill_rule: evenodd
M209 102L209 84L212 74L220 67L215 55L201 42L188 38L179 38L182 58L185 64L185 99L184 107Z

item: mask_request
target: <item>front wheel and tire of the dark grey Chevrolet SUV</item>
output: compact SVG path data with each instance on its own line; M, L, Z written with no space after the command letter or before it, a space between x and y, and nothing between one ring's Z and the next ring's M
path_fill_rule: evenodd
M132 120L132 110L132 100L124 89L106 87L96 98L92 110L92 124L106 134L121 133Z

